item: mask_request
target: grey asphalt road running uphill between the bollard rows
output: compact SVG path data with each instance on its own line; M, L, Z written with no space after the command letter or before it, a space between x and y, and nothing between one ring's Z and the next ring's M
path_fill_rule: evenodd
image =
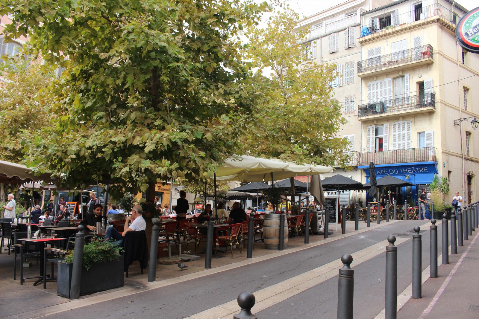
M185 318L234 300L242 291L257 291L337 260L343 253L353 253L377 242L382 242L392 233L405 233L416 224L417 222L400 221L231 271L140 292L91 307L77 308L47 318L91 318L92 316L98 318ZM423 268L425 268L429 263L429 253L426 253L429 247L429 231L423 232L422 235L424 241ZM412 236L407 237L412 238ZM399 245L398 250L401 269L398 285L400 292L411 282L411 241ZM365 315L358 318L374 317L384 308L384 255L381 254L354 269L356 276L355 309L358 309L355 311ZM377 301L375 301L376 299ZM260 314L258 316L261 319L335 318L336 303L337 278L333 278L261 311L261 317ZM320 316L318 316L319 314Z

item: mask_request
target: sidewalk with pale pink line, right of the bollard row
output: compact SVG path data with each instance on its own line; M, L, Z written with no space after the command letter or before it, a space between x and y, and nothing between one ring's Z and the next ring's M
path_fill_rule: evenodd
M441 240L439 238L439 240ZM422 298L410 299L398 312L398 319L479 318L479 232L475 231L449 255L449 264L438 268L437 278L422 285Z

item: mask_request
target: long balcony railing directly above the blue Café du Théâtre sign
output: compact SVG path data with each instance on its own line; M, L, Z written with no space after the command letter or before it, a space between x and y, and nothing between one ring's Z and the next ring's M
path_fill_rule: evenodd
M384 152L361 153L360 165L376 165L414 163L414 162L437 162L435 147L408 148Z

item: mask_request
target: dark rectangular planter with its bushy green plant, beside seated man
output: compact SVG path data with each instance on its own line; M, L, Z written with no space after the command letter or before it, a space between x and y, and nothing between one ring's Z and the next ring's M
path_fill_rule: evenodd
M96 237L84 245L80 296L124 286L121 251L113 242ZM70 297L74 253L74 249L68 250L58 264L57 295L62 297Z

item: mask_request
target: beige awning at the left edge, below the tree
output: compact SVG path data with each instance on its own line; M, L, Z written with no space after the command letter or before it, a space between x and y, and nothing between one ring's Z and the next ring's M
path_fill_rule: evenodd
M36 175L31 168L25 165L0 161L0 183L23 184L24 182L31 181L44 181L50 184L55 183L57 180L52 178L51 173Z

